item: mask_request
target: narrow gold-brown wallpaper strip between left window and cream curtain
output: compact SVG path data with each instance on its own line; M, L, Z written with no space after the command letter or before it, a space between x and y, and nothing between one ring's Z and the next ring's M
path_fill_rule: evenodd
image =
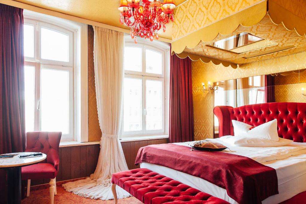
M88 25L88 141L100 141L102 132L99 125L95 93L94 30Z

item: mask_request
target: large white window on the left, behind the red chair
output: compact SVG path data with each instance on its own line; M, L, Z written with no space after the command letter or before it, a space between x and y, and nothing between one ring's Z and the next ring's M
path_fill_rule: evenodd
M87 25L25 11L26 132L60 131L62 141L82 141L81 134L87 131L80 130L86 121L80 121L79 99L80 65L87 64L80 60L81 31L85 28L87 32ZM82 97L87 100L87 93Z

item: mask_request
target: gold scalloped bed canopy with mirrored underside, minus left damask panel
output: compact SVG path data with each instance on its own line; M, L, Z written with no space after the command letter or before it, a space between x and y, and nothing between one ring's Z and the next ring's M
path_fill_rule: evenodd
M189 2L183 5L189 5ZM213 63L218 60L218 64L221 61L224 66L237 68L245 63L306 51L306 12L302 9L305 7L305 1L264 0L189 34L175 33L179 29L173 28L173 38L178 38L173 39L172 52L178 56L190 55L190 58L199 55L211 58ZM177 17L174 25L179 23L178 20ZM247 39L245 34L251 40L241 43Z

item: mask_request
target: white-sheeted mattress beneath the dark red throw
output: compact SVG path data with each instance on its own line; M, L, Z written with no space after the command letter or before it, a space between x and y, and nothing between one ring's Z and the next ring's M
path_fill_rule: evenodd
M218 141L220 142L220 141ZM221 141L222 142L222 141ZM180 145L188 145L188 143L177 143ZM229 147L229 145L227 145ZM277 151L290 149L291 147L302 147L295 152L290 152L288 154L278 155ZM233 151L235 147L230 147L232 151L228 153L232 154L242 154L240 151L245 151L243 156L248 156L250 158L256 158L256 161L261 161L263 165L267 165L276 170L278 177L278 191L279 194L270 196L265 199L263 204L278 204L293 196L306 191L306 143L292 143L292 145L285 147L239 147L237 151ZM245 149L247 148L247 149ZM257 151L256 151L257 149ZM276 151L277 150L277 151ZM254 156L254 152L255 153ZM264 156L263 152L274 152L271 157ZM286 152L286 151L285 151ZM266 153L267 154L267 153ZM251 156L252 155L252 156ZM287 155L287 156L284 156ZM290 156L291 155L291 156ZM261 157L260 157L261 156ZM262 159L264 158L264 159ZM191 161L192 162L192 161ZM192 164L192 163L191 163ZM174 180L178 180L184 184L191 187L199 189L200 191L211 194L215 197L222 198L232 204L237 204L235 200L230 198L226 189L216 186L206 180L199 177L186 174L184 172L179 172L168 167L161 165L155 165L143 162L140 164L141 168L147 168L151 171L157 172L159 174L168 176Z

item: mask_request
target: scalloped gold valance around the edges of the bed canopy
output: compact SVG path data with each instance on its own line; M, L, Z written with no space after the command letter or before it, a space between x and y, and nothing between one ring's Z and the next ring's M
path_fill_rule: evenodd
M232 15L229 15L221 20L215 21L209 25L206 25L203 28L197 29L194 32L183 35L182 37L179 37L177 39L173 39L171 46L172 54L176 53L179 56L179 54L184 52L185 48L194 48L201 41L213 42L213 40L220 35L228 36L235 32L240 25L243 27L254 26L258 24L261 20L263 20L263 18L267 14L274 24L283 24L286 29L295 30L298 35L305 36L306 11L303 10L305 6L306 1L298 0L263 0L257 2L256 4L253 4L241 11L238 11L237 13L233 13ZM177 10L176 12L179 12L179 10ZM184 21L181 21L180 23L184 24ZM191 59L196 59L195 56L198 56L195 54L193 54L195 56L191 56L191 54L189 53L181 54L181 56L184 57L187 57L188 55L190 55L189 58ZM211 59L210 61L212 61L216 65L220 63L227 63L227 66L231 65L233 68L237 67L237 65L232 62L222 60L216 61L216 59L210 58L209 56L204 58L202 56L199 56L197 58L201 59L202 61L204 60L204 62Z

